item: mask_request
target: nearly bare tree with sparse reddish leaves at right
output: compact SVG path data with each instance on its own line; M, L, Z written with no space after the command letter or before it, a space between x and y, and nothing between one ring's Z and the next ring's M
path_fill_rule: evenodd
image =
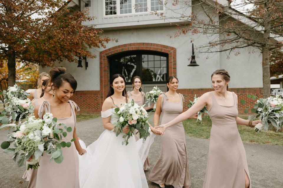
M185 1L174 0L176 9L173 18L184 21L178 25L180 34L203 33L211 36L209 41L200 46L200 52L239 53L239 48L255 47L262 52L263 96L270 96L270 59L269 54L282 50L283 15L282 0L214 0ZM166 3L165 3L166 4ZM178 11L177 6L192 8L190 15ZM252 7L247 9L246 7ZM200 15L198 13L203 13ZM162 19L168 19L164 13L154 12Z

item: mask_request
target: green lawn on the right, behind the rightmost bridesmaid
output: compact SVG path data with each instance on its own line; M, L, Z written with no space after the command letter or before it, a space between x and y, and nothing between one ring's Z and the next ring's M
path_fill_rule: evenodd
M247 119L247 116L241 116L241 118ZM209 116L203 116L202 124L197 123L196 119L188 119L183 121L183 125L186 135L206 139L210 137L211 120ZM256 133L251 127L238 125L238 131L243 143L283 145L282 130L278 132L268 130Z

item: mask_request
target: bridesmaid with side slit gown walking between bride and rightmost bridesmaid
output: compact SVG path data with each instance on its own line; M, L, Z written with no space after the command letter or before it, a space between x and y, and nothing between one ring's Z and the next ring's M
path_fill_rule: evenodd
M176 77L167 78L166 85L169 91L162 93L157 99L153 118L154 127L159 124L161 112L161 124L169 122L182 113L184 98L182 94L176 92L178 84ZM165 184L170 184L175 188L190 187L185 130L182 122L175 124L161 137L161 155L148 178L159 184L160 187L165 187Z

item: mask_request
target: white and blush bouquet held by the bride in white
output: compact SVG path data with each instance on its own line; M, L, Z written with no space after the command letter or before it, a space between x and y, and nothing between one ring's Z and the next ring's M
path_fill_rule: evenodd
M129 138L135 134L134 130L138 130L139 137L146 140L150 135L149 133L149 125L148 125L148 115L147 111L144 110L144 105L139 106L134 103L132 100L130 103L124 103L121 108L115 108L115 115L119 117L119 120L114 126L116 131L116 136L118 136L122 131L122 129L129 125L129 131L123 135L124 141L122 145L128 145Z

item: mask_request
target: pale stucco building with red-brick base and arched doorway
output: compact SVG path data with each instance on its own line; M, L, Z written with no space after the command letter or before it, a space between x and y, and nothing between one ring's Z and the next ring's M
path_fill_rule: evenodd
M137 9L134 8L135 3L139 3ZM195 94L200 96L212 90L211 74L220 68L226 69L231 75L229 90L238 95L238 100L245 99L252 104L254 101L246 98L247 94L262 96L262 57L259 50L243 48L239 55L229 58L226 53L210 54L209 58L208 54L198 54L197 47L210 36L196 34L170 38L169 35L174 36L177 31L170 22L182 22L177 19L164 21L149 13L158 11L174 16L158 0L72 0L68 6L77 10L88 7L90 15L97 19L84 24L96 25L96 28L104 31L105 36L118 39L118 42L106 44L106 48L91 49L97 58L87 59L87 69L85 60L83 68L77 67L76 63L60 63L78 81L72 100L79 105L82 113L101 111L109 88L109 77L114 73L125 76L127 88L131 88L131 76L141 76L145 92L155 85L166 91L165 79L169 75L177 76L180 82L178 92L185 97L185 108ZM180 8L178 11L190 14L199 10ZM196 47L196 61L200 66L187 66L190 63L188 58L192 56L192 40ZM251 50L254 53L249 53ZM47 72L48 68L41 68L40 71ZM243 113L246 107L239 103L239 112Z

